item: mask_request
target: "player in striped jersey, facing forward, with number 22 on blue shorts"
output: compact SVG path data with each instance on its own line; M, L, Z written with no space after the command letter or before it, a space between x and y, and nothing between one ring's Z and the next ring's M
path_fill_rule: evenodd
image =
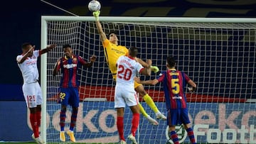
M70 136L70 140L75 142L74 128L78 115L79 106L79 94L78 86L78 67L85 66L91 67L92 63L95 62L96 57L92 55L90 57L90 62L86 62L82 57L78 55L73 55L73 50L71 45L63 45L63 51L65 56L61 57L56 63L53 76L55 76L58 71L61 70L62 78L60 80L60 140L65 141L65 113L67 111L68 104L72 106L72 114L70 118L70 129L67 134Z

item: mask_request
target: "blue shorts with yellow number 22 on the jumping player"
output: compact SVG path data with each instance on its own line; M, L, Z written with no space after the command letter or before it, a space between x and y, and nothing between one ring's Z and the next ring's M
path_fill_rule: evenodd
M69 87L69 88L60 88L60 104L65 106L70 106L78 108L79 106L79 93L78 88Z

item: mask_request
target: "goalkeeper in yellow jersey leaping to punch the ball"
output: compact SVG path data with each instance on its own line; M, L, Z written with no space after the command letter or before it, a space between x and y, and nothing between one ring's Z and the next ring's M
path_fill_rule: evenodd
M102 45L104 48L107 65L109 66L110 71L113 75L113 79L115 81L117 77L117 59L122 55L129 55L129 50L125 46L118 45L118 38L116 33L110 33L109 39L107 39L107 35L102 30L102 25L99 21L100 11L93 12L93 16L95 16L96 19L97 31L100 34L100 39L102 41ZM136 60L142 66L149 67L149 65L146 62L139 59L138 57L136 57ZM151 66L151 70L153 72L159 71L158 67L156 66ZM142 84L138 84L137 82L135 82L134 89L136 92L139 93L139 95L143 96L143 99L144 101L146 101L146 104L149 105L149 107L154 111L154 113L156 113L156 118L166 120L166 116L164 116L164 114L162 114L159 111L159 109L154 104L154 101L151 99L151 96L149 96L149 94L147 94L146 91L144 90ZM139 111L142 113L144 117L146 117L149 120L151 124L155 126L158 125L158 122L146 113L141 104L139 104Z

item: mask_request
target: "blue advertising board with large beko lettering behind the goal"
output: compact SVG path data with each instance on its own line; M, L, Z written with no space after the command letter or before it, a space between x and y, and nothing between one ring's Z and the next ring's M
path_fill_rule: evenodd
M0 112L4 118L0 118L0 140L31 140L31 130L28 128L29 117L26 115L24 102L0 101ZM142 103L146 108L146 104ZM165 111L164 103L156 103L160 111ZM13 116L9 116L7 107L13 107ZM201 143L256 143L256 104L255 103L188 103L189 117L193 126L196 140ZM47 107L47 139L51 142L59 142L59 112L60 105L48 102ZM147 113L154 113L146 108ZM69 122L68 111L66 122ZM27 116L27 118L26 118ZM18 118L17 118L18 117ZM124 135L130 133L132 113L125 109ZM8 123L12 123L11 125ZM80 143L117 143L119 140L116 128L116 111L114 102L86 101L80 103L78 121L75 128L75 137ZM66 126L68 128L68 124ZM141 116L137 137L139 143L166 143L169 136L166 135L166 121L159 121L159 126L151 126ZM189 142L183 128L178 131L181 141ZM170 141L171 143L171 141Z

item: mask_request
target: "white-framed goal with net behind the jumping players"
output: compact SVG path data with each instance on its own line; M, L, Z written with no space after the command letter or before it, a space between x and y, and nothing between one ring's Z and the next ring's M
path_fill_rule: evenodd
M151 59L160 71L166 70L166 57L174 56L177 70L188 74L198 85L187 93L188 113L197 143L256 143L256 19L253 18L124 18L102 17L105 33L117 31L119 45L139 48L142 60ZM107 67L94 18L42 16L42 48L55 43L57 48L41 57L41 86L44 95L41 133L47 143L59 143L60 74L53 67L69 44L75 55L86 61L96 55L92 67L80 67L80 107L75 127L78 143L118 143L114 82ZM159 73L152 72L154 79ZM159 110L166 114L161 84L144 86ZM139 96L146 112L154 111ZM68 106L65 131L69 128ZM125 138L130 133L132 113L124 115ZM166 121L151 126L140 117L139 143L172 143ZM182 126L177 126L180 142L189 143ZM66 140L69 141L68 135ZM129 140L127 140L129 142ZM130 143L130 142L129 142Z

